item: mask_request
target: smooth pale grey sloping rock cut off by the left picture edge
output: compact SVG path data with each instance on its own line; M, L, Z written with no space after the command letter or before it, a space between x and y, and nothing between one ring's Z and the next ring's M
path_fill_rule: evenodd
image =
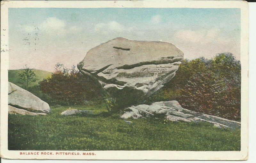
M8 112L22 115L46 115L50 106L32 93L9 82Z

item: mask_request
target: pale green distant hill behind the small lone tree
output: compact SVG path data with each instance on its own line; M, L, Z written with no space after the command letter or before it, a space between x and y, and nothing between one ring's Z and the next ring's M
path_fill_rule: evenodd
M35 70L36 78L38 80L36 80L36 82L34 82L34 83L31 83L30 87L38 84L38 82L42 81L44 78L50 77L52 75L51 72L48 72L48 71L37 70L37 69L33 69L33 70ZM12 82L13 84L16 84L16 85L18 85L20 87L21 84L18 83L18 82L20 80L19 79L19 73L21 73L21 71L22 71L22 69L19 69L19 70L8 70L8 81Z

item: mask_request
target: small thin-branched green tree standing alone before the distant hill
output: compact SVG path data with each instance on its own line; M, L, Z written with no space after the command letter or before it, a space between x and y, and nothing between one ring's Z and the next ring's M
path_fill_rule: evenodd
M27 65L25 65L25 68L23 68L21 73L19 73L19 77L19 83L24 89L28 89L28 86L37 80L35 70L30 69Z

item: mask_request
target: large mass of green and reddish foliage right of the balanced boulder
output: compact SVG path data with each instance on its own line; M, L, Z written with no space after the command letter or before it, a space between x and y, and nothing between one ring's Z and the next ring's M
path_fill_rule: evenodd
M161 90L184 108L232 120L241 118L241 64L231 53L184 60ZM176 93L176 94L172 94ZM171 95L170 95L171 94Z

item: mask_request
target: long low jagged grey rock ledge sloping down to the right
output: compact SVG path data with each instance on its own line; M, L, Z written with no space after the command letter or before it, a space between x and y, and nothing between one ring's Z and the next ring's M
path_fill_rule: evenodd
M233 120L227 120L217 116L207 115L203 113L194 112L184 109L180 106L178 101L161 101L155 102L151 105L131 106L124 109L125 113L121 118L142 118L149 116L156 116L157 114L164 114L166 120L170 121L207 121L216 127L240 128L241 123Z

